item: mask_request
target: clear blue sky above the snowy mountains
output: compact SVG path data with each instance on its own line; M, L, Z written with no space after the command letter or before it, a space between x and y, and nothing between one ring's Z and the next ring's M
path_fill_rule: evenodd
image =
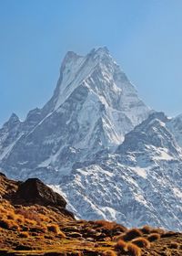
M106 46L140 98L182 112L181 0L0 0L0 124L52 96L67 50Z

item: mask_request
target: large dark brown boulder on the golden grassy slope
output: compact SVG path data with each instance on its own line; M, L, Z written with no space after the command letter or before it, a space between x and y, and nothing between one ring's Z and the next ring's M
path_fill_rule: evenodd
M15 199L24 200L25 203L43 206L66 208L66 200L38 178L28 178L19 185Z

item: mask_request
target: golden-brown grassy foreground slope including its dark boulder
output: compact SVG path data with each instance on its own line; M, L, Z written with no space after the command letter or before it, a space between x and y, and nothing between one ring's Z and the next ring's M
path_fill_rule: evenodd
M182 255L182 234L105 220L76 220L37 178L0 174L0 255Z

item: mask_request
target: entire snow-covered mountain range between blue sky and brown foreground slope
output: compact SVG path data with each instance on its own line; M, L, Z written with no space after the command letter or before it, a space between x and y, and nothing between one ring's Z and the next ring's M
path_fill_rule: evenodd
M106 48L68 52L53 97L0 129L0 167L36 176L82 219L182 229L182 117L141 101Z

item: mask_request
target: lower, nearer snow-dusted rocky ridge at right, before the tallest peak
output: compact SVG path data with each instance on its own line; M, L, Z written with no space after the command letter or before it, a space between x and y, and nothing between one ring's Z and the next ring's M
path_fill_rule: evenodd
M182 150L167 122L163 113L151 114L115 154L64 176L59 187L78 218L182 229Z

